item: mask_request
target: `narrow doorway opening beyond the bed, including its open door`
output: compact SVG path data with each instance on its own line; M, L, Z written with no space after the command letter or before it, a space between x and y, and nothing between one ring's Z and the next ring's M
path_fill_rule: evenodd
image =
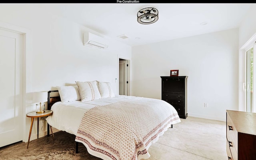
M119 95L130 95L130 64L129 60L119 58Z

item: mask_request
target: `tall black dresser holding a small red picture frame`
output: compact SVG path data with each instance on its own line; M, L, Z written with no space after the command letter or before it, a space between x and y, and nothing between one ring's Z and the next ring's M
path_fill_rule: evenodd
M188 76L161 76L162 100L170 103L180 118L186 119L187 113L187 79Z

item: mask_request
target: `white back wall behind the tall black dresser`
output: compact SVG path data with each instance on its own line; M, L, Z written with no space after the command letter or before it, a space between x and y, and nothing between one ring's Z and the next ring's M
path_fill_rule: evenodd
M160 76L177 69L188 76L188 116L225 121L238 110L238 29L133 47L132 66L133 96L161 99Z

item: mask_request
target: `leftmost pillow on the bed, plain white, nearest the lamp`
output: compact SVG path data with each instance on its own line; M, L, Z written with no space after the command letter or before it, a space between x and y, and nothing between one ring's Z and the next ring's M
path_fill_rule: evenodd
M81 100L78 86L57 86L61 102Z

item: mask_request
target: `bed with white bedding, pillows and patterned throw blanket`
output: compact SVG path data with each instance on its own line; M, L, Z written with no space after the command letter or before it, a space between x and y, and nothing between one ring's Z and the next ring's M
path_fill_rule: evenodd
M76 135L76 152L80 142L103 160L147 159L151 144L180 122L174 107L163 100L114 95L109 82L76 84L48 92L53 114L46 118L50 126ZM52 97L53 92L60 96Z

